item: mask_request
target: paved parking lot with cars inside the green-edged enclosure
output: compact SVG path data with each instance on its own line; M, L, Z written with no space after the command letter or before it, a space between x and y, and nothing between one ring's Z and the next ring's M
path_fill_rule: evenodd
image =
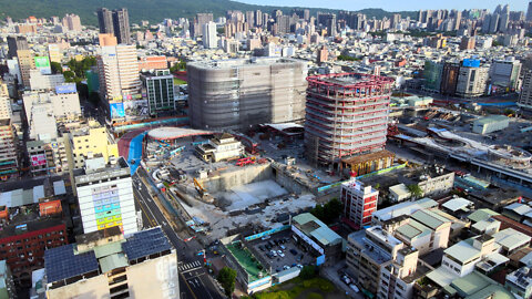
M279 243L278 245L275 245L276 240L285 240L285 243ZM272 249L265 248L267 244L274 244ZM313 256L310 252L305 252L301 247L297 246L296 241L291 238L291 231L283 231L279 234L272 235L270 238L268 239L257 239L255 241L252 241L249 246L253 246L255 250L268 262L268 266L272 267L272 272L280 272L283 270L284 266L291 267L293 265L315 265L316 264L316 257ZM285 247L285 249L282 248ZM260 249L260 247L263 249ZM296 251L296 255L290 252L290 249ZM277 252L276 257L268 257L267 254L270 252L272 250L275 250ZM282 257L278 254L278 250L280 250L284 255Z

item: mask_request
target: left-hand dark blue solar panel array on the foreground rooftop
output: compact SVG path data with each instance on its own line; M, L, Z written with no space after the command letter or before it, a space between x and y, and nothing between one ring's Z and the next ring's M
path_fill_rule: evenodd
M74 255L72 244L44 251L48 282L92 272L99 269L94 251Z

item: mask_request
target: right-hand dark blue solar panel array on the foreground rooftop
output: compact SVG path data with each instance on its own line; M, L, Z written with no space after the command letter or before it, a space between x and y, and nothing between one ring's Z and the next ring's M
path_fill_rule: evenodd
M127 259L133 260L170 250L172 246L161 228L153 228L129 237L122 248Z

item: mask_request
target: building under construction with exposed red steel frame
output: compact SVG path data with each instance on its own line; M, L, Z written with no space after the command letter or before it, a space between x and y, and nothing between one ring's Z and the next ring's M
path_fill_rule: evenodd
M338 168L342 157L385 147L393 79L341 73L307 81L305 146L309 161Z

